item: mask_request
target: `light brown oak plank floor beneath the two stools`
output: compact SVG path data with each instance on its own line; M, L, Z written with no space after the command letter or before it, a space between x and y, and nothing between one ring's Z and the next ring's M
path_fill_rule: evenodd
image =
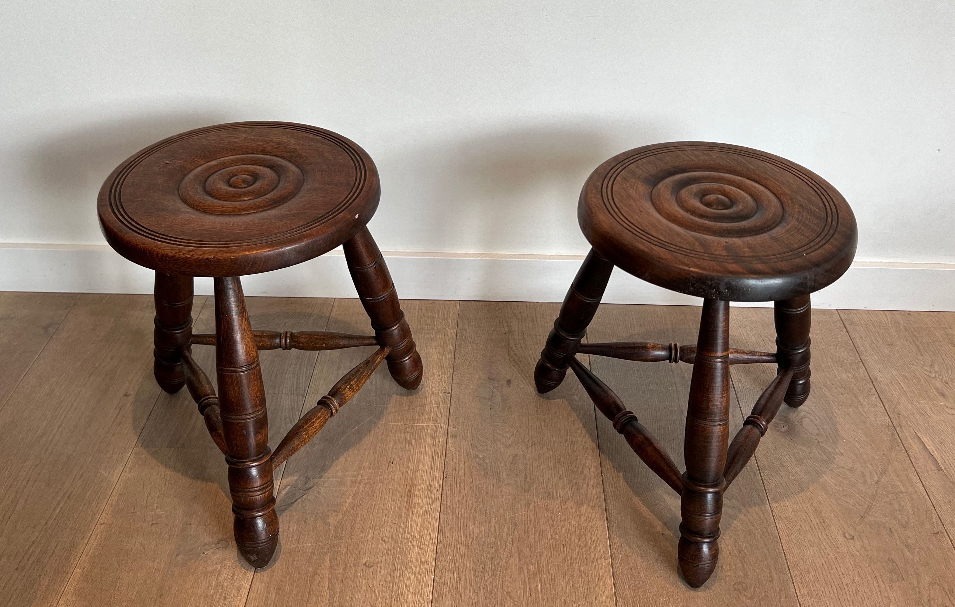
M694 591L676 495L573 375L533 391L557 304L403 306L422 387L379 369L289 460L279 558L253 571L222 454L185 391L153 382L152 299L0 293L0 606L955 604L955 315L814 312L813 393L737 477ZM368 330L356 300L248 307L257 328ZM194 314L212 330L211 298ZM605 305L588 339L691 344L698 320ZM772 349L772 313L733 307L731 333ZM263 352L270 444L369 353ZM691 367L592 359L682 462ZM732 368L734 426L773 373Z

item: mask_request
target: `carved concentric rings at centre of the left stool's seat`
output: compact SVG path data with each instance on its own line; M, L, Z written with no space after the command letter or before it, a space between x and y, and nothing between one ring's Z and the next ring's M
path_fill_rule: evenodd
M241 215L282 204L304 180L302 169L283 157L239 154L190 171L180 182L180 197L206 213Z

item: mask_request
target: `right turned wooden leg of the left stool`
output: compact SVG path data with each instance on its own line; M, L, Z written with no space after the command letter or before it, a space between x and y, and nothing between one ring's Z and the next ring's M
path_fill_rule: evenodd
M414 345L412 329L401 311L392 275L381 251L371 238L368 227L359 230L344 248L351 280L371 318L378 344L392 348L385 359L388 370L401 387L413 390L421 383L421 355Z

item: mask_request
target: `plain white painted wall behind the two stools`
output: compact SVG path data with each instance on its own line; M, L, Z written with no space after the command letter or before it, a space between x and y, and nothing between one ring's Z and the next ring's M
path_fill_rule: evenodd
M161 137L244 119L361 144L383 183L372 232L405 256L581 255L577 195L597 164L708 139L831 181L859 219L859 261L955 276L953 31L951 0L6 2L0 287L78 272L70 288L136 290L70 265L103 243L100 182ZM61 250L33 267L47 262L30 251ZM456 296L439 265L414 281ZM487 281L471 296L494 297ZM950 289L927 297L955 307Z

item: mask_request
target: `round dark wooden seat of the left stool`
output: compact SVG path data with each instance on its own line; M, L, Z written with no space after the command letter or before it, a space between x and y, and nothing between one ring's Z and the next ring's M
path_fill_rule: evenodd
M290 122L220 124L163 139L120 164L97 208L126 259L167 274L243 276L348 241L378 205L371 157Z

